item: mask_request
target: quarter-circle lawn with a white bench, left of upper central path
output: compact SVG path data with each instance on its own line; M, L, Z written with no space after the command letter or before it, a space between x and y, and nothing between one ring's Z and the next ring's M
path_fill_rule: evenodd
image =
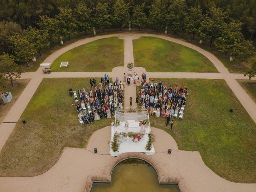
M68 69L60 63L68 61ZM124 40L105 38L81 45L59 56L52 64L52 71L111 71L124 65Z

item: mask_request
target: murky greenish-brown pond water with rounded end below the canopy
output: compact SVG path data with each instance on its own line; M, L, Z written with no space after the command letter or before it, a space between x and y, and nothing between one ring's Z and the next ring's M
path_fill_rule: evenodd
M119 163L111 183L94 183L91 192L180 192L178 184L158 184L156 172L142 160L128 159Z

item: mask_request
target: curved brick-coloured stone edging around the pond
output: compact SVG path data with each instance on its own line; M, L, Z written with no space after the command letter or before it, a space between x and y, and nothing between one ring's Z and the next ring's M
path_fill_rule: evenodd
M165 176L160 164L158 164L158 162L154 160L154 158L144 153L138 153L138 152L124 153L114 158L114 161L112 161L109 164L108 169L106 170L106 174L104 175L93 175L93 176L88 175L83 192L90 192L92 189L93 182L110 183L111 174L115 166L121 161L130 159L130 158L136 158L136 159L140 159L148 162L154 168L154 170L156 170L159 184L178 184L180 192L188 192L188 189L184 183L184 179L181 176L180 177Z

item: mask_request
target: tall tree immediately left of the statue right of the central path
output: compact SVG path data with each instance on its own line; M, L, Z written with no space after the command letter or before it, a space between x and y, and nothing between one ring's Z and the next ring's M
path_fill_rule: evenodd
M149 24L152 28L158 31L159 29L164 29L166 25L166 2L164 0L155 0L152 3L149 12Z

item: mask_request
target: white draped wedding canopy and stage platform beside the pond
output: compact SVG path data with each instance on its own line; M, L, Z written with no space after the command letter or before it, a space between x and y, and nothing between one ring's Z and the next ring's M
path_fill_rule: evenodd
M153 146L151 150L146 150L150 133L148 110L131 113L116 111L115 122L111 126L110 155L118 156L126 152L153 155L155 153ZM119 137L119 148L115 152L111 148L114 136Z

